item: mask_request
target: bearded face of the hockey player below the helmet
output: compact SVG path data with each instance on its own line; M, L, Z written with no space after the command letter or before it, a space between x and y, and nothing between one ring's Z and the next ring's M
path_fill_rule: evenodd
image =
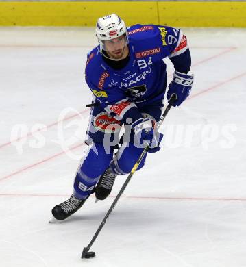
M125 36L104 41L104 48L110 58L120 59L125 58L128 55Z

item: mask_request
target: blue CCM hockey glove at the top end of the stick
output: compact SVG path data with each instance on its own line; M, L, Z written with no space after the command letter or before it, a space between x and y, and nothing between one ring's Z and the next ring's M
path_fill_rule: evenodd
M190 90L193 85L193 73L190 71L186 73L180 73L175 71L173 73L173 81L169 84L169 90L167 92L167 99L171 98L172 94L177 95L177 100L173 103L173 106L179 106L190 94Z

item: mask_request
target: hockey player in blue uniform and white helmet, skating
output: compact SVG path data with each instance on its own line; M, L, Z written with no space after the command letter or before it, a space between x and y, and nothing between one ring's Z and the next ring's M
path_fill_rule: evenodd
M116 176L130 173L145 146L151 153L160 149L162 135L155 123L167 87L162 59L169 58L175 68L167 91L167 99L177 94L173 105L179 106L188 97L193 84L190 51L180 29L160 25L126 28L119 16L111 14L97 20L96 35L99 45L88 53L85 71L94 103L87 130L88 151L77 170L72 196L52 209L58 220L76 212L90 194L106 199ZM123 126L125 133L120 138Z

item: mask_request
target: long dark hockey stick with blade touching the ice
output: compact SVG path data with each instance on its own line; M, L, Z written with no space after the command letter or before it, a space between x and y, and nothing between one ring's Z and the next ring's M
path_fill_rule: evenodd
M176 94L172 94L171 99L169 100L169 105L167 105L166 109L164 110L162 116L160 117L160 120L157 123L157 129L159 129L160 125L162 125L162 122L164 120L164 118L167 116L169 110L171 109L171 106L173 104L173 102L177 99ZM108 209L108 212L106 214L106 216L103 218L103 220L101 221L101 225L99 225L97 231L95 232L95 235L93 236L92 240L90 241L90 243L88 244L88 246L84 247L83 252L82 252L82 259L83 258L90 258L90 257L95 257L96 253L93 251L89 251L90 247L93 245L93 243L95 242L97 236L99 235L101 229L103 228L103 226L106 223L106 220L108 219L108 216L110 216L110 213L112 212L112 210L114 209L117 201L119 200L119 198L121 197L121 194L124 192L125 188L127 187L127 184L130 182L130 179L132 178L132 175L134 175L136 169L138 168L141 160L143 160L143 157L145 157L145 154L147 153L147 150L149 149L149 147L145 147L145 149L143 150L143 152L141 153L140 157L138 158L138 161L134 164L131 173L128 175L127 179L125 180L125 183L123 184L121 190L119 191L119 193L117 194L116 198L114 199L114 202L112 203L112 205L110 206L110 209Z

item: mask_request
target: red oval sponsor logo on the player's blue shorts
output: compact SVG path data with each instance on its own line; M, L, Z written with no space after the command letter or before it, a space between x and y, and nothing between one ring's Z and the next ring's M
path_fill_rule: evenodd
M97 114L93 124L97 130L103 133L114 133L121 129L121 122L109 116L107 112Z

